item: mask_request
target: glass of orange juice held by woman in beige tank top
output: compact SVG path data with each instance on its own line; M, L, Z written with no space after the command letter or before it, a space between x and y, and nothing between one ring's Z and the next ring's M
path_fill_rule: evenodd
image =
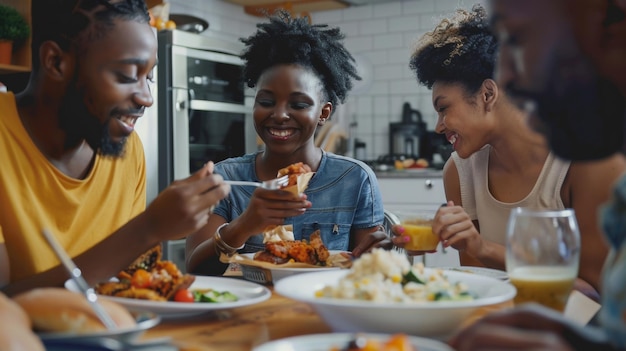
M400 224L404 227L403 235L410 239L404 245L407 251L435 251L439 244L439 237L433 234L433 219L436 211L412 210L401 211L397 215Z

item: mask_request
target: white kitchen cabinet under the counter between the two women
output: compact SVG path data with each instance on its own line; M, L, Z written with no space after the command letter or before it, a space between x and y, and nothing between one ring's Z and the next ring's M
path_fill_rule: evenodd
M420 170L377 172L378 186L385 210L436 210L446 203L441 171ZM426 254L423 262L428 267L458 267L459 253L449 247L445 251L441 244L436 253ZM419 260L416 256L414 262Z

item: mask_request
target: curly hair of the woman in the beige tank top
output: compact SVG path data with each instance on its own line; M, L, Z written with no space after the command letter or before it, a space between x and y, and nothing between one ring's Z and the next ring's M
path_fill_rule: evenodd
M478 92L493 77L498 39L489 26L485 9L457 10L432 32L424 34L411 55L409 67L417 81L433 87L436 81L462 84L469 94Z

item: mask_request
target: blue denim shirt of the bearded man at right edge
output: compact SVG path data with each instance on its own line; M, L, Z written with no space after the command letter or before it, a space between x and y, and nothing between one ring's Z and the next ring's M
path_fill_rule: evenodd
M626 176L601 215L610 252L602 273L600 324L615 347L626 349Z

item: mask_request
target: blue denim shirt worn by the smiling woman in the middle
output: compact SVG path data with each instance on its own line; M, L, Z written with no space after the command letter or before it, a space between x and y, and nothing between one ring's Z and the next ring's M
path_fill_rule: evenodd
M256 153L221 161L215 173L231 180L259 181L254 162ZM228 197L213 213L230 222L248 207L254 187L233 186ZM320 230L329 250L350 250L352 229L372 228L383 223L383 203L374 172L363 162L323 152L320 166L304 192L312 207L296 217L285 219L293 225L296 240L309 240ZM242 252L263 250L263 235L252 236Z

